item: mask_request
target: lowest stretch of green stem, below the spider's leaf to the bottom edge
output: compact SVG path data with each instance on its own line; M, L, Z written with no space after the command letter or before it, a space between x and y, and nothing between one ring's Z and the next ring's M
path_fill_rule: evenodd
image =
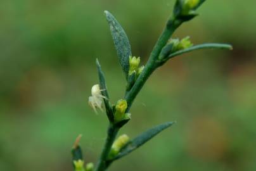
M108 127L108 136L106 137L105 145L103 147L103 151L98 160L95 171L104 171L106 169L106 159L108 158L108 154L110 153L110 149L112 147L113 142L115 141L115 137L118 133L118 127L110 124Z

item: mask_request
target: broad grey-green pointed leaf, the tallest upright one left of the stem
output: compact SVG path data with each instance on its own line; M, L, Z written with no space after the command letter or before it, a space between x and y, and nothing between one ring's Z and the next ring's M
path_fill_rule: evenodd
M122 66L122 70L127 77L129 72L129 56L132 56L131 45L127 35L124 32L124 29L117 22L115 17L108 11L105 11L105 15L106 20L108 20L108 24L110 25L110 31L115 44L115 49L117 50L120 65Z

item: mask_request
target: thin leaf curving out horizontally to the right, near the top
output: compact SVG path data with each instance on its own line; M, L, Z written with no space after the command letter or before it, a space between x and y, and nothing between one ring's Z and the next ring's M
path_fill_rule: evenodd
M232 50L233 47L229 44L219 44L219 43L198 44L198 45L189 47L187 49L177 51L176 53L172 53L168 56L168 58L166 60L169 60L170 58L174 58L175 56L181 55L183 53L188 53L188 52L195 51L198 49L229 49L229 50Z

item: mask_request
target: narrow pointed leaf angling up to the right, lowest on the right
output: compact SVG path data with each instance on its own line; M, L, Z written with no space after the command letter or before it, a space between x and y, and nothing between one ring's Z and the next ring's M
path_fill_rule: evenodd
M153 127L150 130L147 130L146 132L143 132L141 135L130 141L127 146L125 146L123 149L121 149L120 153L113 159L117 160L118 158L122 158L125 155L128 155L135 149L139 148L139 146L142 146L144 143L149 141L151 138L157 136L158 133L162 132L162 130L167 129L171 125L173 125L175 122L167 122L161 125L157 125L156 127Z

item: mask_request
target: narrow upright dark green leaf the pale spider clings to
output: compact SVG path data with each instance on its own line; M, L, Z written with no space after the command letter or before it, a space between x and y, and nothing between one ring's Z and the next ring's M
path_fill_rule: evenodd
M113 122L114 117L113 117L113 110L112 110L112 106L110 104L109 101L109 96L108 96L108 91L106 89L106 82L105 82L105 77L104 74L101 70L101 65L99 64L98 59L96 60L96 65L97 65L97 69L98 69L98 75L99 75L99 87L101 90L101 94L102 96L105 96L106 99L104 98L104 104L105 104L105 108L106 108L106 115L108 116L108 119Z

